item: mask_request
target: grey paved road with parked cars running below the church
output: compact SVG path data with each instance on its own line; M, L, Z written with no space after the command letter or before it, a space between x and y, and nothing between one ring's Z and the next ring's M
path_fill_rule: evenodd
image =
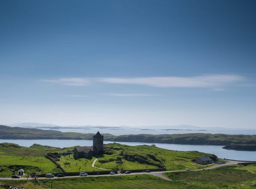
M97 159L96 159L97 160ZM96 160L92 163L94 165L94 163L96 162ZM210 166L210 167L207 167L206 169L207 170L210 170L210 169L215 169L217 167L222 167L222 166L227 166L227 165L235 165L235 164L238 164L238 163L245 163L245 162L239 162L239 161L227 161L227 163L223 163L223 164L217 164L217 165L213 165L213 166ZM205 170L204 169L197 169L197 170L192 170L192 171L202 171L202 170ZM118 173L118 174L115 174L116 176L127 176L127 175L141 175L141 174L151 174L151 175L154 175L154 176L157 176L157 177L160 177L164 180L170 180L168 179L167 177L165 177L163 175L163 173L165 172L185 172L183 170L179 170L179 171L162 171L162 172L132 172L130 174L121 174L121 173ZM105 176L114 176L114 175L110 175L110 174L104 174L104 175L88 175L88 177L105 177ZM57 177L54 177L54 178L45 178L45 177L40 177L38 178L39 180L42 180L42 179L64 179L64 178L77 178L77 177L80 177L80 176L66 176L66 177L61 177L61 178L57 178ZM20 178L19 180L32 180L34 178ZM0 180L18 180L18 179L12 179L12 178L0 178Z

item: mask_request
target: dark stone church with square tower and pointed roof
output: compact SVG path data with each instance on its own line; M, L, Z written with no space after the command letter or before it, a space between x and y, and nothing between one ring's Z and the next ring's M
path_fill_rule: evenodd
M103 152L103 135L98 131L93 136L93 146L75 147L74 158L91 159L93 155L99 155Z

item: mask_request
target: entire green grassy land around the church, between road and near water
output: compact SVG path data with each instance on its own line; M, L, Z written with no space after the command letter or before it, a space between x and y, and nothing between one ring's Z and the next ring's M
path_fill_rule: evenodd
M212 159L217 159L215 155L196 151L180 152L146 145L127 146L113 143L106 145L106 147L104 155L98 157L95 166L107 170L154 169L163 166L167 170L201 169L203 166L192 163L192 159L205 155L211 156ZM0 144L0 177L10 177L14 170L17 172L20 168L25 169L26 172L61 172L54 163L45 158L45 155L47 153L73 150L73 148L55 148L36 144L24 147L16 144L2 143ZM117 157L122 158L123 164L119 164L117 161L99 163L99 160L117 159ZM58 163L66 172L96 171L96 168L91 167L95 158L93 157L91 160L85 158L74 159L73 155L66 155L61 156Z

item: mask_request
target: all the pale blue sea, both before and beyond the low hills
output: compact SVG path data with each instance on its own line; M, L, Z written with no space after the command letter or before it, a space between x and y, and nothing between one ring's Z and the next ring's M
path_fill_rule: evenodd
M43 128L40 128L43 129ZM44 128L49 130L49 128ZM150 129L136 127L91 127L91 128L58 128L51 130L59 130L61 132L77 132L77 133L96 133L100 131L102 135L109 133L112 135L128 135L128 134L185 134L185 133L210 133L210 134L232 134L232 135L256 135L256 129L224 129L224 128L194 128L194 129L166 129L151 127ZM92 140L58 140L58 139L0 139L0 143L8 142L15 143L20 146L31 146L39 144L53 147L72 147L72 146L92 146ZM104 141L104 144L113 143L112 141ZM256 161L256 151L237 151L223 149L223 146L210 145L177 145L177 144L162 144L162 143L143 143L143 142L117 142L120 144L137 146L137 145L155 145L157 147L178 150L178 151L199 151L217 155L219 158L241 160L241 161Z

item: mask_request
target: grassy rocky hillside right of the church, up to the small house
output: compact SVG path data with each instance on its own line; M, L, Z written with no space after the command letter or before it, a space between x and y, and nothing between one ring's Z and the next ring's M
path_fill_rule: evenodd
M209 155L212 159L217 160L217 156L201 153L197 151L174 151L166 150L163 148L158 148L154 146L128 146L121 145L117 143L108 144L107 147L119 147L123 150L110 150L110 155L104 155L99 158L99 160L122 157L122 161L125 163L99 163L97 161L96 165L100 165L100 168L111 167L112 169L149 169L165 166L167 170L185 170L190 169L201 169L202 165L192 163L192 159L199 156ZM128 163L133 162L133 164L128 165Z

